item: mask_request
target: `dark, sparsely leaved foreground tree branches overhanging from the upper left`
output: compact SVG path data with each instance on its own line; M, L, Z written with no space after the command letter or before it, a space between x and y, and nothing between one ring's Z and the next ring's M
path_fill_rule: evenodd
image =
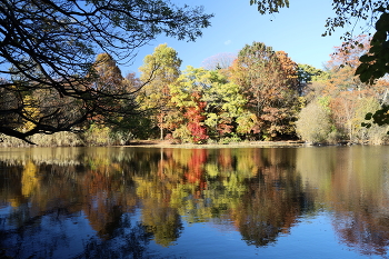
M28 141L34 133L71 131L107 102L132 100L127 91L91 87L96 54L128 61L161 33L196 40L211 17L201 7L163 0L2 1L0 132ZM40 91L57 102L26 101ZM26 122L33 127L23 130Z

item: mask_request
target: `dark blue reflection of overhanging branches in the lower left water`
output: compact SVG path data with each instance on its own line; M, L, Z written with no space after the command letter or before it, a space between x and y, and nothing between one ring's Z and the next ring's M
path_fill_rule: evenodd
M27 206L18 210L21 209L28 210ZM87 236L80 246L82 250L76 250L73 231L79 231L79 236L84 235L84 230L82 227L69 227L67 219L71 216L69 211L58 209L30 218L21 228L0 229L0 247L7 248L9 258L152 258L148 256L151 253L148 245L152 235L140 222L133 222L130 215L118 219L109 239Z

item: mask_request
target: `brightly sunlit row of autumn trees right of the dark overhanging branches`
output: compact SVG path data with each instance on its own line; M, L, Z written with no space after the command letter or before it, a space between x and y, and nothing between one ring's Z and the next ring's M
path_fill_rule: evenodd
M149 112L148 136L177 142L242 140L310 142L387 141L387 127L366 128L366 113L387 102L387 78L375 86L356 76L359 57L369 51L360 36L357 48L336 47L325 69L298 64L285 51L262 42L245 46L229 67L187 67L178 53L160 44L144 58L139 92L140 113ZM154 70L154 68L157 68ZM142 127L143 128L143 127ZM143 128L144 129L144 128Z

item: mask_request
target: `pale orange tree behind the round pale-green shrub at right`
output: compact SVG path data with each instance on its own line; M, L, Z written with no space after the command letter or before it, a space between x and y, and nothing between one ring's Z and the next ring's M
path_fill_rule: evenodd
M327 63L329 69L327 94L332 97L330 107L333 122L351 141L360 139L358 137L360 136L358 132L361 131L360 124L355 124L359 103L363 103L363 99L369 99L371 102L371 98L376 99L376 102L383 100L388 87L388 81L385 79L376 80L375 87L371 87L356 76L356 70L361 63L359 58L369 51L370 46L366 36L359 36L355 41L360 42L357 48L351 48L347 43L336 47L331 60Z

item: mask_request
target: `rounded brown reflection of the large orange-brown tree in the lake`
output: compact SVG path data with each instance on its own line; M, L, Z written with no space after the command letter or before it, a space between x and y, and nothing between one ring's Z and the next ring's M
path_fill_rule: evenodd
M313 209L311 197L303 192L301 179L293 171L293 160L277 161L282 153L272 149L262 156L263 166L248 180L248 190L233 210L233 219L243 239L255 246L276 241L288 233L302 212ZM289 161L289 162L288 162Z

